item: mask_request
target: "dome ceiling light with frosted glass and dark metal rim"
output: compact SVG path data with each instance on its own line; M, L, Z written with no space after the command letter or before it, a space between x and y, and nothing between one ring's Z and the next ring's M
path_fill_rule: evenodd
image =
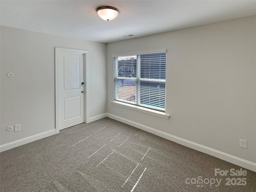
M117 17L119 10L111 6L101 6L96 9L100 18L110 21Z

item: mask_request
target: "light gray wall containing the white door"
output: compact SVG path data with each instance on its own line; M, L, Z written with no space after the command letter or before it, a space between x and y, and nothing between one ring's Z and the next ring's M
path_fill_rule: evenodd
M1 26L0 45L1 145L55 129L55 47L89 51L89 117L106 113L106 44Z

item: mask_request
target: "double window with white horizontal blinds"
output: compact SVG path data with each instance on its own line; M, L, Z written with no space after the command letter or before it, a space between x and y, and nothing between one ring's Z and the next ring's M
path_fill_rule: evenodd
M114 56L114 100L165 111L166 50Z

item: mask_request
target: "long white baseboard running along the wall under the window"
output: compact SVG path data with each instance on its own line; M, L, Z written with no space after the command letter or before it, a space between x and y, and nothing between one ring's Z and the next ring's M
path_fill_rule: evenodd
M151 128L151 127L148 127L148 126L145 126L145 125L127 120L125 118L122 118L122 117L119 117L119 116L116 116L116 115L113 115L113 114L108 113L107 117L112 118L114 120L118 120L118 121L123 122L125 124L134 126L136 128L142 129L146 132L150 132L150 133L155 134L157 136L160 136L162 138L165 138L165 139L168 139L170 141L181 144L183 146L192 148L194 150L206 153L208 155L220 158L220 159L225 160L227 162L236 164L238 166L241 166L243 168L246 168L246 169L249 169L249 170L252 170L252 171L256 172L256 163L254 163L254 162L250 162L248 160L245 160L245 159L242 159L242 158L239 158L239 157L236 157L236 156L233 156L233 155L230 155L230 154L212 149L210 147L207 147L207 146L204 146L204 145L201 145L201 144L197 144L195 142L191 142L191 141L186 140L186 139L182 139L180 137L168 134L166 132L162 132L160 130L156 130L154 128Z

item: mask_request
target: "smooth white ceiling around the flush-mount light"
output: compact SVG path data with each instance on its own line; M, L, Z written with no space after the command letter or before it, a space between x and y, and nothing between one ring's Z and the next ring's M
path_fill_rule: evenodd
M105 5L120 10L116 19L97 15ZM108 43L256 15L256 1L1 0L0 11L2 26Z

